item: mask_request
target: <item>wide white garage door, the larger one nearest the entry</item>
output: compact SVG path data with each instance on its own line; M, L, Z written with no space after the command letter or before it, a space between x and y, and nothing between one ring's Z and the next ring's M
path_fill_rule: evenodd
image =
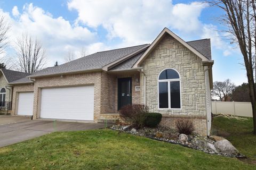
M42 89L41 118L93 121L94 86Z

